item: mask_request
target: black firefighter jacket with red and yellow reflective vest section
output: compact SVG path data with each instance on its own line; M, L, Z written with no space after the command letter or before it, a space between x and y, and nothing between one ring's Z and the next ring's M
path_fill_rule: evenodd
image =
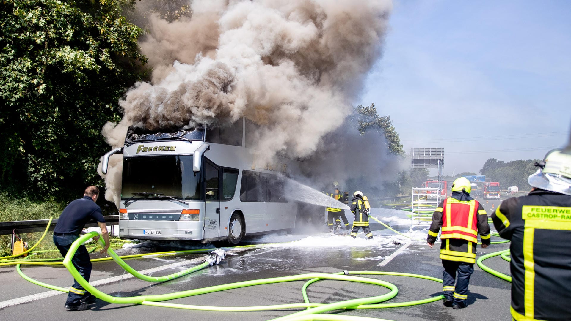
M482 244L490 244L488 215L482 205L468 194L453 192L452 197L440 202L432 214L428 243L440 235L440 258L448 261L476 263L478 233Z

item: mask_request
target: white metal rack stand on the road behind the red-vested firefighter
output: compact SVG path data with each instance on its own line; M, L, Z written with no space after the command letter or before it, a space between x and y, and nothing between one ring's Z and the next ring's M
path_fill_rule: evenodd
M440 198L439 188L412 188L411 232L421 227L429 227L432 222L432 213L438 207Z

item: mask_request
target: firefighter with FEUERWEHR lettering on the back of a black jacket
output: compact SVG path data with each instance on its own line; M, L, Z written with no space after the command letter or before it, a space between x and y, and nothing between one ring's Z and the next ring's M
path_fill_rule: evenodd
M526 196L508 198L492 214L510 243L514 320L571 318L571 146L549 151L528 178Z

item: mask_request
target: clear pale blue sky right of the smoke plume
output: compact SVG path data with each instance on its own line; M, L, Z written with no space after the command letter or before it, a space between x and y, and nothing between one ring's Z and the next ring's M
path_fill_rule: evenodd
M362 101L444 174L542 159L569 141L571 2L395 1ZM431 170L436 174L436 170Z

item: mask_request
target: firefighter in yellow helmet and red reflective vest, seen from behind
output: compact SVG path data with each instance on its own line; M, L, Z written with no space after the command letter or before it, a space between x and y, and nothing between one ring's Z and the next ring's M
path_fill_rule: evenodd
M455 309L468 305L468 283L476 263L478 233L482 247L490 244L488 214L478 201L470 197L470 192L471 185L467 178L460 177L452 183L452 196L440 202L432 214L427 238L428 246L432 248L442 227L440 258L444 267L443 304Z

